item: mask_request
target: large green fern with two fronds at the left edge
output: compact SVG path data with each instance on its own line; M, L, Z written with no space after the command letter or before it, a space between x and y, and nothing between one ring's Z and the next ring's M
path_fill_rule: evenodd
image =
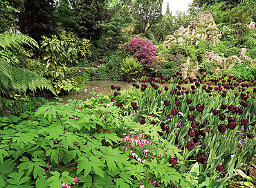
M39 48L37 42L22 34L17 33L3 33L0 34L0 46L2 48L15 48L18 45L26 44L28 46L35 46ZM47 89L55 93L53 85L48 79L37 75L25 68L13 66L4 57L0 51L0 88L16 89L17 91L25 92L28 89L35 91L39 89Z

